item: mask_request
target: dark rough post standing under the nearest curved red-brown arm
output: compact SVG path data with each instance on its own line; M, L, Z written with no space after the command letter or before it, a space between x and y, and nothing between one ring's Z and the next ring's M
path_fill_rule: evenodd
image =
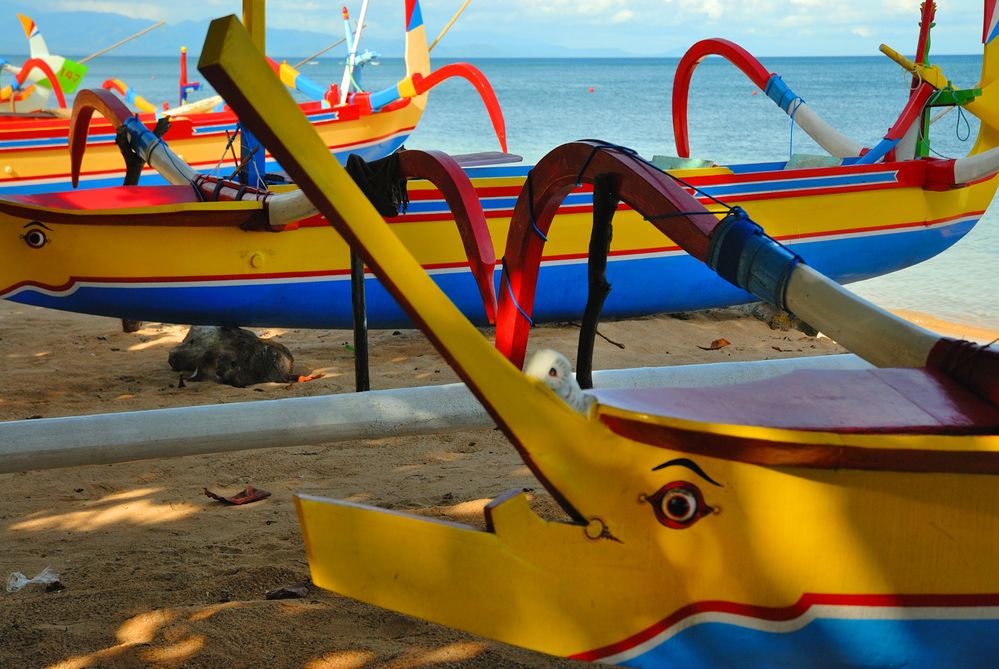
M581 388L593 387L593 344L597 336L597 324L600 322L600 311L611 290L611 285L607 283L607 254L610 253L611 238L614 235L614 212L620 201L611 176L598 174L593 181L593 232L590 235L587 260L589 292L579 332L579 348L576 351L576 380Z

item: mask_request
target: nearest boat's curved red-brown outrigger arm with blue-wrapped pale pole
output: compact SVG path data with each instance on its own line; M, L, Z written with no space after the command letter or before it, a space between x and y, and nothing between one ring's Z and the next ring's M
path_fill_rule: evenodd
M554 214L574 187L593 183L598 175L609 180L617 198L691 256L872 364L937 366L944 359L964 357L954 351L973 350L973 345L941 339L847 291L766 235L742 210L708 211L634 152L587 140L565 144L542 158L528 177L531 187L521 192L514 208L501 279L509 289L500 292L496 346L517 366L524 362L541 255ZM987 377L999 378L999 353L989 349L974 355L975 365L951 364L948 372L995 401L999 390Z

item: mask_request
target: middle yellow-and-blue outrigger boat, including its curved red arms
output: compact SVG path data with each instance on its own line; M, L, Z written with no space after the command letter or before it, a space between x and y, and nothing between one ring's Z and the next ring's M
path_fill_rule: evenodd
M413 10L412 28L419 6L408 7ZM990 9L981 82L974 89L955 91L939 68L927 62L931 9L923 10L920 58L904 63L921 83L889 137L869 151L833 134L821 119L816 121L817 115L749 54L720 46L718 40L695 48L683 61L681 73L688 76L677 78L675 101L685 99L689 73L698 60L708 53L723 53L752 72L754 81L793 112L795 123L837 155L854 155L829 157L827 162L835 164L827 167L764 163L685 167L669 173L683 179L712 212L728 207L749 212L769 235L841 283L893 272L944 251L980 220L999 187L995 176L999 63ZM422 30L421 26L407 33L411 48L424 44ZM98 104L92 97L82 97L78 103ZM405 109L421 105L420 100L413 98ZM963 106L981 120L968 157L942 160L922 155L927 136L924 117L937 104ZM176 142L161 143L152 137L141 118L128 121L127 112L107 105L101 109L114 117L115 125L126 126L132 146L144 147L140 153L163 156L167 154L161 149L177 147ZM408 113L405 109L399 113ZM89 119L92 112L78 108L77 113L79 120ZM76 121L73 127L74 152L82 152L86 131ZM113 134L112 125L101 127ZM678 127L685 129L685 121ZM678 134L677 143L683 149L682 136ZM92 140L93 134L89 137ZM199 165L197 161L185 165L179 153L191 157L177 149L169 161L157 163L171 175L168 180L176 184L172 187L116 187L0 200L0 254L5 260L0 267L0 296L144 321L349 328L348 245L304 196L281 189L247 189L218 179L198 180L191 188ZM74 168L81 180L90 155L88 150L84 162ZM427 162L417 153L409 152L408 157L401 153L398 160L404 164L401 176L427 176L419 168L407 171L415 162ZM432 180L413 180L408 209L388 219L421 265L477 324L491 319L495 298L490 294L508 293L510 286L531 322L579 318L586 303L582 287L587 284L592 187L574 180L544 182L537 168L527 166L464 164L448 169L460 172L459 167L474 188L474 198L457 201ZM525 187L535 192L556 188L567 195L559 207L536 210L533 222L524 222L516 215L515 203ZM289 202L297 204L289 207ZM521 222L511 223L514 219ZM462 226L474 232L462 236L456 232ZM510 285L500 279L502 262L497 258L506 259ZM526 278L521 278L524 273ZM626 203L615 219L606 278L614 287L604 305L604 314L610 317L755 299L717 279ZM365 283L369 327L412 325L374 274L369 272ZM521 292L521 284L531 294ZM668 285L670 290L651 290L653 285Z

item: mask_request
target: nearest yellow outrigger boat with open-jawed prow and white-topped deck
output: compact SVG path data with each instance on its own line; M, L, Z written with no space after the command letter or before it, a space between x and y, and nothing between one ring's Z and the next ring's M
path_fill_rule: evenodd
M486 507L477 530L300 494L313 582L507 643L634 667L990 666L997 351L894 317L738 211L712 215L633 154L579 142L540 161L544 183L561 187L522 192L515 226L557 207L574 183L598 184L604 204L627 202L692 258L879 369L590 395L554 354L524 374L427 276L291 101L277 101L280 82L246 67L262 64L255 53L234 18L219 19L201 71L567 515L541 518L514 491ZM601 210L609 218L614 207Z

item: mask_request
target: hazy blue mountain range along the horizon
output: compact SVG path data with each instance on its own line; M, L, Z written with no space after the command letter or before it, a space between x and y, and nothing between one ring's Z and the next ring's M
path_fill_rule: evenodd
M6 55L27 54L28 43L15 19L16 13L27 13L39 26L49 50L67 57L84 57L125 39L153 24L147 19L131 19L120 14L102 12L34 12L25 7L24 2L0 0L0 53ZM208 23L186 21L165 25L142 37L123 45L109 55L114 56L174 56L181 46L186 46L191 55L201 51ZM295 60L313 54L329 46L340 35L268 28L267 52L272 58ZM396 37L380 37L365 34L363 48L377 51L386 58L403 55L402 31ZM344 53L341 47L340 53ZM332 54L330 54L332 55ZM462 42L454 38L441 41L434 49L434 56L443 58L581 58L627 57L630 54L608 48L586 51L565 49L547 44L532 44L526 49L503 49L482 43ZM670 55L670 54L664 54Z

